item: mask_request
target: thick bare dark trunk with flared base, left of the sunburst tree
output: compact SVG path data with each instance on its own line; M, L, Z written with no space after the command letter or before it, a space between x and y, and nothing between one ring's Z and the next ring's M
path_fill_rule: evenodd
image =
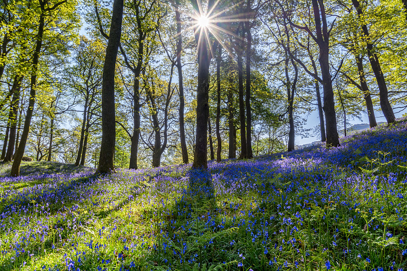
M109 41L103 65L102 81L102 142L97 173L114 170L114 146L116 140L116 123L114 107L114 73L116 58L122 35L124 0L114 0L110 25Z

